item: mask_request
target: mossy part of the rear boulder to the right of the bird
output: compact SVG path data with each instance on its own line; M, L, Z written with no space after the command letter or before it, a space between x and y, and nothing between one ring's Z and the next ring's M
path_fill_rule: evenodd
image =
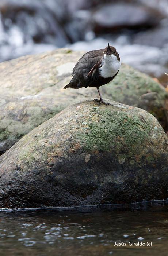
M112 100L145 109L159 120L165 131L168 130L168 94L162 85L128 65L122 65L118 76L108 85L102 89L106 92L108 86Z

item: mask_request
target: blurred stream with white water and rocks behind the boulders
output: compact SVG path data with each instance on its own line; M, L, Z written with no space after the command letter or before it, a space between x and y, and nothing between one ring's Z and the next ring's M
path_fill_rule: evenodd
M0 62L69 47L114 45L123 62L167 86L168 0L1 0Z

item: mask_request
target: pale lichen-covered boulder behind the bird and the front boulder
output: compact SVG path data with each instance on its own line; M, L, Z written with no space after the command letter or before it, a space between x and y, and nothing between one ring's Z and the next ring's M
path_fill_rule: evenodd
M65 107L98 96L96 88L63 90L81 55L58 49L0 64L0 155ZM104 98L154 114L167 131L168 94L149 76L123 64L117 77L101 90Z

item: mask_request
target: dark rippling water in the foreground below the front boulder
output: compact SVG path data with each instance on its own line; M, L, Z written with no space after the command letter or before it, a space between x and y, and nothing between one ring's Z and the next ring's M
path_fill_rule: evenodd
M1 211L0 255L167 256L168 201Z

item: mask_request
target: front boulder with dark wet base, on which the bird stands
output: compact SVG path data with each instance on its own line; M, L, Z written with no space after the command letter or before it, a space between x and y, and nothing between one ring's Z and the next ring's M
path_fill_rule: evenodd
M76 103L0 157L0 206L129 203L168 197L168 140L145 110Z

